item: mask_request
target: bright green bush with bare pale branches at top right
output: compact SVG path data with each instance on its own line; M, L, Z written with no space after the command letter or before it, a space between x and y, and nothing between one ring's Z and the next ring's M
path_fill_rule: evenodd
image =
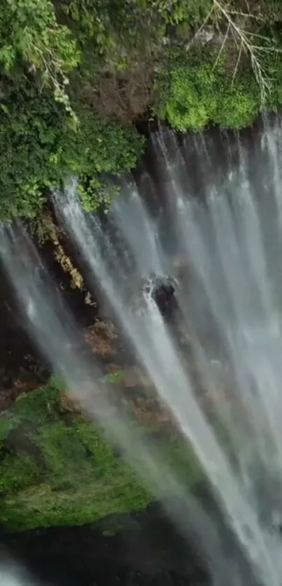
M260 110L282 103L281 3L207 4L186 43L176 32L155 78L155 113L179 131L246 127Z

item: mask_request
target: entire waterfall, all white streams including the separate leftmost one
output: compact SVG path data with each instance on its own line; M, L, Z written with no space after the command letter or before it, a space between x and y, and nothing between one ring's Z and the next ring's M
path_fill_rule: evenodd
M53 195L58 220L82 253L94 292L98 284L157 395L195 450L261 586L282 584L281 138L279 120L265 120L251 150L239 136L180 142L160 130L152 136L154 176L147 173L140 185L129 178L106 226L82 210L76 181ZM160 202L155 209L148 183L150 196ZM52 366L73 396L82 389L78 400L157 494L164 501L167 494L181 500L183 514L170 513L183 531L191 522L197 543L204 541L213 583L249 584L236 564L228 573L231 562L225 563L211 520L163 469L139 431L132 431L127 415L119 413L107 427L108 404L96 392L93 400L97 369L73 356L69 341L76 328L58 311L52 290L46 291L43 269L24 236L24 257L17 259L18 238L18 231L3 229L1 255ZM158 281L173 284L170 323L156 301Z

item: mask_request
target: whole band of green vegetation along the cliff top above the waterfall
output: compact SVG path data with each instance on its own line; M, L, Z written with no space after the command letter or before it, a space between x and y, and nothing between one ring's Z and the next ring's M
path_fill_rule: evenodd
M134 166L134 120L250 124L281 92L279 0L6 0L0 14L1 220L80 177L87 208ZM200 33L200 34L199 34ZM201 34L210 34L206 41ZM258 35L258 36L256 36Z

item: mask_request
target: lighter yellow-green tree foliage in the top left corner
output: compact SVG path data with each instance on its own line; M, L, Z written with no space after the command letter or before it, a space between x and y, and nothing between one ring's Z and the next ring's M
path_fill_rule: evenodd
M77 66L79 52L68 27L58 24L50 0L8 0L0 15L0 62L4 71L27 64L51 85L55 99L71 111L64 86Z

